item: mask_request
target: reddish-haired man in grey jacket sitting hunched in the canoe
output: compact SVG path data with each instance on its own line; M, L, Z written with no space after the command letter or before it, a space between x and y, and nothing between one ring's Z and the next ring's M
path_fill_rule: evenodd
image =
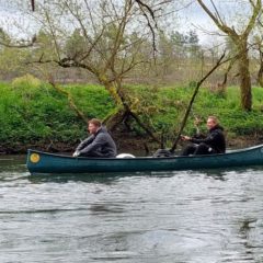
M89 121L88 130L90 136L79 144L73 157L116 157L116 145L100 119L92 118Z

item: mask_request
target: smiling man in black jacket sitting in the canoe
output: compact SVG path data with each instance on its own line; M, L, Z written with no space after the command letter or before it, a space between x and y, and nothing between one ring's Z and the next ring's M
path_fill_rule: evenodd
M183 150L182 156L226 152L226 139L222 133L224 128L219 125L217 117L209 116L206 126L208 134L205 138L182 136L182 140L193 142Z

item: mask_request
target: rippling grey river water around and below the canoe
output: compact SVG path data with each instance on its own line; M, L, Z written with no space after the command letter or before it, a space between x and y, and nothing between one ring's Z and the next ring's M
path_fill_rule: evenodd
M263 167L32 178L24 162L0 160L1 263L263 262Z

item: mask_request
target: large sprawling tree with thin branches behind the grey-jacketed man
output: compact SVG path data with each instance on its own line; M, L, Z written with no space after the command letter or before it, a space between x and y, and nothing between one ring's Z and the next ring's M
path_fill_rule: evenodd
M158 138L132 110L124 79L140 65L150 64L156 52L156 14L169 1L141 0L46 0L35 2L32 16L44 35L50 37L49 49L34 50L34 62L80 68L92 73L105 87L118 110L108 119L113 124L133 117L155 140ZM136 35L136 37L134 37ZM141 56L145 42L152 49ZM41 43L38 43L41 44ZM38 58L36 58L38 56ZM107 119L107 121L108 121Z

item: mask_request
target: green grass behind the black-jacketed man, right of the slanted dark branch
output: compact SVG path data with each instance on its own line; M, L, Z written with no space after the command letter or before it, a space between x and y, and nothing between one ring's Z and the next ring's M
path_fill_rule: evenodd
M229 87L226 96L218 96L207 89L201 89L193 113L205 118L216 115L230 136L255 136L263 134L262 100L263 89L253 88L253 111L240 107L239 89ZM205 122L204 122L205 123Z

